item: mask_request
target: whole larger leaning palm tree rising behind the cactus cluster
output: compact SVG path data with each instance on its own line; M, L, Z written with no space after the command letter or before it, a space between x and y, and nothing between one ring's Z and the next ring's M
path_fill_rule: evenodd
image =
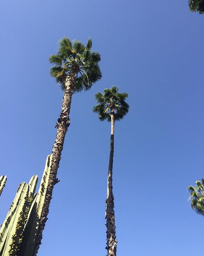
M53 187L58 182L56 175L61 159L65 134L69 127L69 112L72 94L83 90L89 90L91 86L102 77L98 66L98 62L101 60L100 54L91 51L91 39L88 39L86 46L77 40L74 40L73 42L74 44L72 44L67 37L62 38L59 41L57 54L52 54L49 57L49 62L55 65L50 68L50 76L55 78L56 83L61 86L64 95L61 114L55 126L57 127L57 133L52 150L52 164L47 196L41 215L40 233L38 236L39 245L36 254L41 243L42 230L44 229L47 220Z

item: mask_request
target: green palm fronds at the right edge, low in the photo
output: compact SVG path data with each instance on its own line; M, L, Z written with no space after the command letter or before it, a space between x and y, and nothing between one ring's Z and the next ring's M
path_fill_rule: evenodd
M189 186L187 188L190 192L191 208L197 214L204 216L204 179L201 179L201 182L197 180L195 183L195 187Z

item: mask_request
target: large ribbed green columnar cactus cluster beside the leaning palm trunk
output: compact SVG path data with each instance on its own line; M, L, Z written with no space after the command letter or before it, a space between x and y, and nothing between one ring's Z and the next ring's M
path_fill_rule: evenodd
M47 156L46 166L35 193L38 177L21 183L9 212L0 229L0 256L34 256L39 244L40 221L44 204L52 155Z

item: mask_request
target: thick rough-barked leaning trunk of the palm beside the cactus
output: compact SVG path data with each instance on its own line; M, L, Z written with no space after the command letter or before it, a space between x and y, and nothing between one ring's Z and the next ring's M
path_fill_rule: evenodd
M38 234L38 245L35 251L35 255L38 253L38 249L41 244L42 239L42 231L45 228L45 222L47 221L47 214L49 212L49 204L52 199L52 192L54 185L58 182L57 170L59 167L61 152L63 149L64 138L69 127L69 112L71 106L71 98L72 98L72 88L75 83L74 75L68 75L65 80L65 92L62 100L62 111L60 117L58 118L58 122L56 123L57 133L55 143L53 145L52 150L52 164L50 169L50 176L48 181L48 189L46 193L46 199L42 210L41 220L40 220L40 231Z

